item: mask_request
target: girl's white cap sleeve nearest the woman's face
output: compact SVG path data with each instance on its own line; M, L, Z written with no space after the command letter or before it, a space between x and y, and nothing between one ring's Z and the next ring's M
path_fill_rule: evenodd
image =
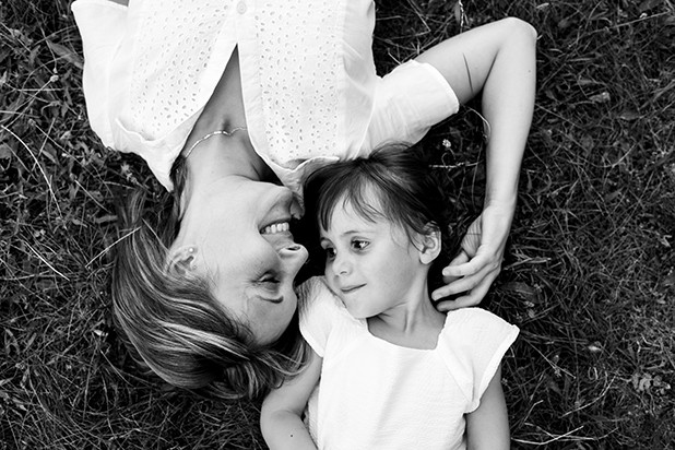
M299 287L300 333L305 341L323 357L328 338L338 315L342 315L340 299L329 289L323 277L308 280Z

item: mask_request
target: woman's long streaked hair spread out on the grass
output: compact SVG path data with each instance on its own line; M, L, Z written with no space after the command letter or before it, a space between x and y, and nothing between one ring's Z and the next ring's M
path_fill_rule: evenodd
M122 211L112 270L112 310L127 346L170 384L204 395L254 399L295 375L306 359L297 313L281 339L260 346L213 296L210 282L167 264L180 228L185 157L171 168L174 193L147 208L137 190Z

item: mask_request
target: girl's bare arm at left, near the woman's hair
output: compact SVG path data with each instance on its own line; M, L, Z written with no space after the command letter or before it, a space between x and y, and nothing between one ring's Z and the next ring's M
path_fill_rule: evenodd
M323 359L311 351L303 371L272 390L262 402L260 429L271 450L301 450L317 447L301 415L319 378Z

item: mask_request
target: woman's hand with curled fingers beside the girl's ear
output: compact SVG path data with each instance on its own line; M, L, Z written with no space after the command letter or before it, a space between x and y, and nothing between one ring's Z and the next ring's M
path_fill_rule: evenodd
M501 271L512 217L511 208L487 205L470 225L462 239L460 254L443 269L446 285L434 291L431 298L438 300L450 295L463 295L440 301L436 306L438 310L449 311L481 303Z

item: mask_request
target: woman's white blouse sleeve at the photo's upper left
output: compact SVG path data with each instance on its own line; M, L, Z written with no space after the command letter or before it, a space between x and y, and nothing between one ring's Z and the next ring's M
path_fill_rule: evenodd
M128 8L109 0L76 0L71 9L82 36L82 88L90 126L104 145L114 146L109 84L112 61L126 34Z

